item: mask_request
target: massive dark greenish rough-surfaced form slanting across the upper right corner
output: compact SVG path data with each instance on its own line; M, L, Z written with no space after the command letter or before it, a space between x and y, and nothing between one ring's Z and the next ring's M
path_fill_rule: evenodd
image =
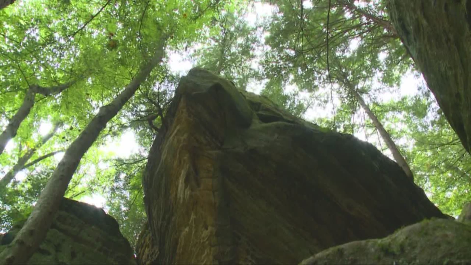
M389 0L402 42L471 153L471 1Z

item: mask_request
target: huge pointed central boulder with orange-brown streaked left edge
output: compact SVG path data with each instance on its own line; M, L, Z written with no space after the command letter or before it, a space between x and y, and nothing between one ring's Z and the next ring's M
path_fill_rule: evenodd
M293 264L446 218L373 145L240 92L183 77L149 154L143 264ZM149 237L150 234L150 237Z

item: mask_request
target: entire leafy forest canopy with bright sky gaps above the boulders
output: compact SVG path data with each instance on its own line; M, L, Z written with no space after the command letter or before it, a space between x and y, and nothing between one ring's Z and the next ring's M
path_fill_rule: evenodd
M0 8L1 232L32 212L65 151L84 139L65 197L103 207L135 244L146 219L147 154L179 78L195 66L371 142L446 214L471 200L470 155L383 0L16 0ZM85 139L90 124L100 130Z

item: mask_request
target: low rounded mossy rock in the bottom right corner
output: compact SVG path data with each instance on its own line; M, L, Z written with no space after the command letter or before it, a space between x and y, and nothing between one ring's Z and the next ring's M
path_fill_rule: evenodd
M471 226L427 220L374 240L326 249L301 264L471 264Z

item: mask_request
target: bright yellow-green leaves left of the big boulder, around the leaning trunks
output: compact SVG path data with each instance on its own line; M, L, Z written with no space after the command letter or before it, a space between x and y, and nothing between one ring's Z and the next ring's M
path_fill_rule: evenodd
M36 104L21 123L11 148L0 156L2 174L41 141L39 129L45 124L60 121L65 125L30 161L66 149L98 109L114 99L139 66L153 55L162 34L170 35L167 50L193 45L214 17L214 5L215 1L211 0L165 3L37 0L0 10L2 130L21 105L30 85L50 87L80 79L58 95L36 97ZM126 157L126 161L138 157L140 167L145 163L142 158L146 157L155 128L162 122L160 114L165 113L174 89L175 78L168 74L167 63L164 60L153 71L136 96L107 124L82 157L66 192L73 199L106 198L105 208L121 221L123 234L132 243L144 218L140 172L132 173L130 166L123 169L114 165L121 157ZM154 128L149 126L150 122ZM123 135L134 135L137 150L125 154L110 150ZM2 231L29 213L59 158L60 155L49 157L24 169L9 184L6 193L1 194ZM126 170L129 174L124 180L115 178ZM128 209L125 215L123 207Z

